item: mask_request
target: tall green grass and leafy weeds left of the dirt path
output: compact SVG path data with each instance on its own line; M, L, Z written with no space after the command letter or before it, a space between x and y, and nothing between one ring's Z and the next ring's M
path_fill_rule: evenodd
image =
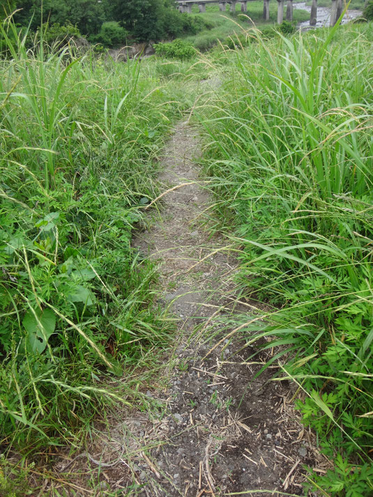
M27 49L9 20L1 36L0 440L79 443L95 411L139 400L128 368L167 346L130 240L188 96L151 63Z

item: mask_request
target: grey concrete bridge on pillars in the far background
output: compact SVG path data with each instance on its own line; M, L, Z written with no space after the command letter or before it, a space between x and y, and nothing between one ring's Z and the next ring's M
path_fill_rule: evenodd
M206 12L206 5L210 3L218 3L220 12L226 12L227 4L229 5L229 10L231 12L236 12L237 3L241 3L241 12L248 12L248 3L252 0L176 0L178 4L178 10L181 12L192 12L192 6L197 5L199 7L199 12ZM263 0L263 18L264 20L269 20L269 1ZM287 1L287 10L286 10L286 20L293 20L293 0ZM342 14L343 0L332 0L332 6L330 11L330 26L334 26L334 24L339 19ZM285 0L277 0L277 23L281 24L284 20L284 5ZM310 17L310 25L314 26L317 22L317 0L312 0L312 8L311 8L311 17Z

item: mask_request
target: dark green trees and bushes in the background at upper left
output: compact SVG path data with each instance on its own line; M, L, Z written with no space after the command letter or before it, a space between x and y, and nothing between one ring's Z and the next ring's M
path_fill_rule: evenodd
M201 17L179 13L172 0L1 0L0 18L15 9L19 26L31 31L46 22L73 26L105 47L195 34L206 27Z

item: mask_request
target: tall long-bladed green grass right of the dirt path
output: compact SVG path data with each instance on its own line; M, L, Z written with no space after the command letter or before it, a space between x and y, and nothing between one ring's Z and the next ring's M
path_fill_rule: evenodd
M372 27L257 33L226 53L231 77L201 116L241 295L273 306L237 332L279 347L305 425L335 458L309 477L330 496L373 491Z

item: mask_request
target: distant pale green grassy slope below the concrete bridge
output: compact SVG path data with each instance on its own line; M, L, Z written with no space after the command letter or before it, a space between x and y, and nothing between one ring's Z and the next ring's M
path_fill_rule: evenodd
M252 23L258 29L262 29L265 26L272 26L277 21L277 2L274 1L270 2L270 20L268 22L263 20L262 1L250 1L246 15L241 15L238 5L236 8L236 15L232 16L228 9L226 13L220 13L217 5L206 6L206 13L199 15L203 16L214 27L206 31L201 31L201 33L195 36L188 36L185 40L190 41L197 49L205 50L215 45L216 40L224 41L234 33L240 33L242 29L252 27ZM192 11L193 13L197 13L197 6ZM305 10L294 10L294 21L301 22L309 18L310 15Z

